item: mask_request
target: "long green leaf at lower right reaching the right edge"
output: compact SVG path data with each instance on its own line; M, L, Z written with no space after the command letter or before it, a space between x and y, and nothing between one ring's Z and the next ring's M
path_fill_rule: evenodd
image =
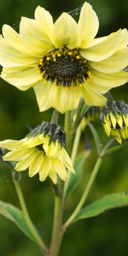
M95 217L108 209L128 206L128 192L118 192L105 195L103 198L87 205L77 215L75 221Z

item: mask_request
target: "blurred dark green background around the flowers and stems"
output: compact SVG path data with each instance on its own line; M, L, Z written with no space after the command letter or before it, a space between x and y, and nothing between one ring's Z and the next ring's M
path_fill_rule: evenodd
M18 31L20 17L34 17L35 8L40 5L53 15L54 21L61 12L69 12L79 7L81 0L4 0L0 2L0 29L9 24ZM99 17L98 36L105 36L119 28L128 29L128 1L89 0ZM78 20L78 16L75 17ZM128 103L128 84L111 90L116 100L124 99ZM20 140L28 133L28 125L35 127L42 120L51 119L52 109L39 113L34 91L23 92L0 79L0 140ZM64 115L59 122L64 123ZM102 129L100 120L95 122L102 143L108 138ZM92 135L88 131L93 152L84 166L82 184L68 198L66 219L73 211L82 194L84 186L96 161L97 153ZM84 137L80 151L84 148ZM38 175L28 177L28 171L22 172L21 185L26 203L44 241L49 244L52 229L54 196L49 183L41 183ZM106 193L128 190L128 146L124 146L102 164L99 175L88 197L87 203L102 197ZM0 200L19 207L10 171L0 163ZM0 256L41 256L37 245L21 233L11 221L0 215ZM128 255L128 207L114 209L96 218L82 220L73 224L64 236L61 256L127 256Z

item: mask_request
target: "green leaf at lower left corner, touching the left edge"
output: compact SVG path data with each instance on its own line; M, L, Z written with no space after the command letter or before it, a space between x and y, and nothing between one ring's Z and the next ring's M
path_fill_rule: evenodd
M23 212L12 204L0 201L0 214L13 221L29 239L35 241L24 218Z

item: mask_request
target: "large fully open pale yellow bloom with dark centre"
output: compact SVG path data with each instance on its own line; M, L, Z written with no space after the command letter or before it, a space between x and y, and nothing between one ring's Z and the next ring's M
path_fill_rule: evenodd
M128 66L128 31L95 38L98 29L98 17L87 2L78 23L66 12L53 23L38 6L35 19L21 18L19 34L3 26L1 77L20 90L33 87L40 111L76 109L81 97L87 105L105 105L102 94L128 81L122 71Z

